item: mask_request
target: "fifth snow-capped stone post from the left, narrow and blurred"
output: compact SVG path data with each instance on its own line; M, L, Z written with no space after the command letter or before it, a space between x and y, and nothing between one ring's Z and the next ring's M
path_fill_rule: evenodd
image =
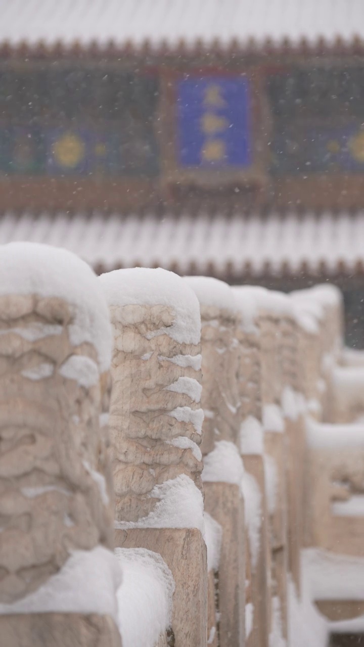
M291 342L288 327L293 323L290 297L266 291L259 307L262 349L262 411L266 468L267 505L271 541L271 631L287 639L288 589L288 495L287 476L290 444L282 411L284 373L293 369L289 362ZM292 442L293 439L291 438Z

